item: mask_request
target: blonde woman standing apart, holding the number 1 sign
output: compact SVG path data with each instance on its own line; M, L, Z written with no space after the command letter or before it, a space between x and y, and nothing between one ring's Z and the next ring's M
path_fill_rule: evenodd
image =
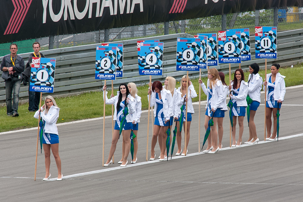
M43 150L45 156L45 177L43 180L49 180L51 173L49 173L49 167L51 164L51 149L55 157L55 161L58 168L57 181L62 180L61 173L61 159L59 157L59 136L56 122L59 117L60 108L57 106L56 101L52 96L46 96L44 105L36 111L34 118L38 119L39 115L43 121Z

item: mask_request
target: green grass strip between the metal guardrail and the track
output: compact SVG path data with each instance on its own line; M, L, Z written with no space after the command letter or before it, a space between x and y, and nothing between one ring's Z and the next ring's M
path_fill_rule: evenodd
M281 68L280 73L285 78L286 86L296 86L303 84L303 64L294 66L293 68ZM184 72L185 73L185 72ZM270 70L267 70L270 73ZM265 78L265 70L261 70L259 74ZM245 72L245 81L248 79L249 72ZM233 79L234 75L231 75ZM203 82L207 82L207 78L202 78ZM229 84L229 76L225 75L225 82ZM199 93L198 79L191 80L195 90ZM176 87L180 86L180 80L177 80ZM138 95L142 97L142 110L148 109L147 99L148 86L138 86ZM108 97L111 92L109 92ZM114 95L117 95L117 89L114 89ZM43 94L45 97L46 94ZM206 99L206 95L201 90L201 100ZM287 92L286 92L287 97ZM90 119L103 116L103 99L101 92L83 93L78 96L68 96L65 98L55 98L56 103L61 108L60 116L57 123L70 122L75 120ZM193 102L199 101L199 97L193 99ZM44 102L44 101L43 101ZM18 130L38 126L38 120L33 118L34 113L28 111L28 103L19 105L18 117L6 115L6 106L0 107L0 132ZM106 105L105 114L112 114L112 106Z

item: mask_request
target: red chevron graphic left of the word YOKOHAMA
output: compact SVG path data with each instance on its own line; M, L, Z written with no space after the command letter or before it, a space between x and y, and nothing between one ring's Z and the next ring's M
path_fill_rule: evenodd
M12 0L12 2L15 9L5 29L4 35L18 33L32 0Z

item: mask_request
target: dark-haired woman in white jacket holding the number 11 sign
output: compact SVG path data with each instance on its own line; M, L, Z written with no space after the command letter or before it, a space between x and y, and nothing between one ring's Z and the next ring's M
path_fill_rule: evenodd
M263 90L267 89L266 95L266 140L273 141L277 135L277 110L281 108L285 96L285 76L279 73L279 64L272 64L271 73L266 75L266 81L263 83ZM274 131L271 133L271 113L274 117Z

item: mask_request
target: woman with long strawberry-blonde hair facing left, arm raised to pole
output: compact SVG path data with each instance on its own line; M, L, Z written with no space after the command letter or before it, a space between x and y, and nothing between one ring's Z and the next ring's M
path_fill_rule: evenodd
M203 92L207 95L207 105L205 112L205 130L208 128L208 121L213 116L214 125L211 126L210 135L208 136L208 145L206 150L202 151L204 153L216 153L220 150L218 146L218 131L217 123L218 118L224 117L224 95L223 86L219 77L219 72L216 68L211 68L208 70L208 80L207 88L205 84L199 79L199 83L202 87Z

